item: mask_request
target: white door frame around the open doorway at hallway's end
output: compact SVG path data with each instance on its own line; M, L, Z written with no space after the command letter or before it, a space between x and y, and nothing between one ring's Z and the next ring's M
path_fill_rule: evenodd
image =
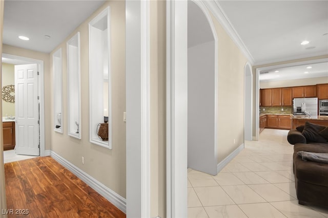
M14 60L26 61L37 64L37 71L39 72L38 95L39 95L39 137L40 137L40 156L46 156L45 151L45 90L44 90L44 61L17 55L3 53L2 57Z

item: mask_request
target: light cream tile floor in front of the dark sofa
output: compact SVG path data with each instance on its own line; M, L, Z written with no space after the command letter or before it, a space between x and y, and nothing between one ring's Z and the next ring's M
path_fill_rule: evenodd
M298 204L287 134L264 129L216 176L188 169L188 217L327 218L328 209Z

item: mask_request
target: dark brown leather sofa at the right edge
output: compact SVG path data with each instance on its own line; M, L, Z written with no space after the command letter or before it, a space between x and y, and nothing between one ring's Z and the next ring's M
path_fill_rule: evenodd
M328 164L304 161L297 154L298 151L328 153L328 143L310 142L300 132L301 128L290 130L287 137L294 145L293 170L298 203L328 208Z

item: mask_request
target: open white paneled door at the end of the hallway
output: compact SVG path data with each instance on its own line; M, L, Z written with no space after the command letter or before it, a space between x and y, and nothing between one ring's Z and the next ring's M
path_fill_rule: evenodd
M16 154L39 156L37 64L15 66Z

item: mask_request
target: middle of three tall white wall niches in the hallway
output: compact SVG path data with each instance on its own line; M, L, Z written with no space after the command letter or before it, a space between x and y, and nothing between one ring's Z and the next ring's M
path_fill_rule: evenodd
M80 33L67 42L68 135L81 139Z

